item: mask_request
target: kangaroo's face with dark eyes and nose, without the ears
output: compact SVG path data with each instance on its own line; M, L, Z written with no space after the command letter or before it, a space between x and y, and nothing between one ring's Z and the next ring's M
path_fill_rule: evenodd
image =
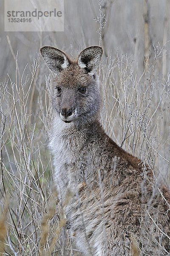
M98 78L77 64L62 70L54 79L52 104L64 122L93 116L99 111L99 99Z

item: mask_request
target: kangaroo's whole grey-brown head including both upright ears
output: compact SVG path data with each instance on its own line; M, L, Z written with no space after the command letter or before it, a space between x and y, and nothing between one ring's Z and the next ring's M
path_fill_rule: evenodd
M52 105L63 122L89 122L99 117L100 93L96 71L102 48L92 46L80 52L77 60L54 47L40 49L53 79Z

